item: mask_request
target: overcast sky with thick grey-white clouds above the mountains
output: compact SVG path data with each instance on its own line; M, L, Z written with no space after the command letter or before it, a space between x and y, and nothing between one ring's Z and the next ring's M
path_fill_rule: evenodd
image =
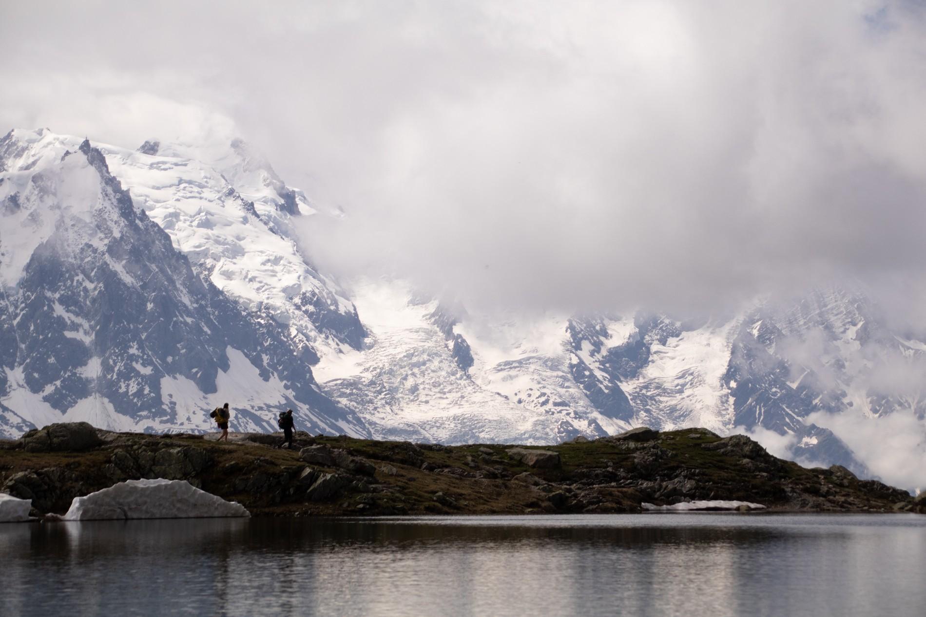
M4 2L0 126L253 142L311 250L471 302L917 314L920 2ZM6 129L5 129L6 130Z

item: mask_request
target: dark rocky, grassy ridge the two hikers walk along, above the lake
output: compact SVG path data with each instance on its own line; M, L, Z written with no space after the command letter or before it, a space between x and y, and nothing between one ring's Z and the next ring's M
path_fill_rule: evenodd
M185 479L252 513L275 515L640 512L643 503L741 500L772 511L926 512L923 496L845 467L806 469L744 436L703 428L547 448L442 446L299 433L151 436L85 423L0 444L0 491L61 513L74 497L142 477Z

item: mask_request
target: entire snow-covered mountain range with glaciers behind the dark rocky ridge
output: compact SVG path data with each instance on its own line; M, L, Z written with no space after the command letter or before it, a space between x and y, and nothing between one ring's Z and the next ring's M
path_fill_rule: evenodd
M339 285L296 232L328 215L239 140L135 151L14 130L0 200L0 434L62 417L204 429L228 400L242 428L291 406L310 430L447 443L706 426L864 472L814 418L926 414L922 381L891 378L926 343L855 286L693 321L480 315L400 278Z

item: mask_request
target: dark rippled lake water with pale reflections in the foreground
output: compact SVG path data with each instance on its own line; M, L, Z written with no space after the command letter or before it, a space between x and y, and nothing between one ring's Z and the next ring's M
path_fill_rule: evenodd
M926 516L0 524L0 614L926 614Z

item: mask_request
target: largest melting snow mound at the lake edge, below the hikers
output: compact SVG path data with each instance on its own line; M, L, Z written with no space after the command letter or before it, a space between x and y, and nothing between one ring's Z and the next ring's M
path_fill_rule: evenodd
M244 506L206 493L185 480L127 480L77 497L64 521L250 516Z

